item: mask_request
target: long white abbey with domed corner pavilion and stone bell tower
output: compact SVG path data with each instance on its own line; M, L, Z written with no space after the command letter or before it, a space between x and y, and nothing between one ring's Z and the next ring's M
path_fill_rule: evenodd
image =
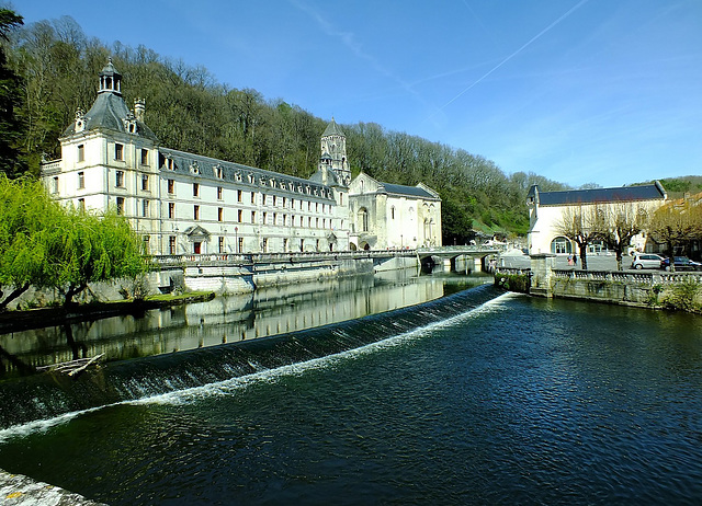
M125 215L155 255L276 253L441 244L441 199L431 188L353 181L346 136L332 119L308 180L160 146L129 110L109 62L98 96L60 138L42 179L66 205Z

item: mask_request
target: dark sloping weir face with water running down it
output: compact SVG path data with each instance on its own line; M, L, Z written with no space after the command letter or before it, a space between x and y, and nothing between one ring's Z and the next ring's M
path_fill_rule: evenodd
M359 348L479 308L500 290L483 285L342 323L207 348L107 363L77 378L42 373L0 388L0 428L272 370Z

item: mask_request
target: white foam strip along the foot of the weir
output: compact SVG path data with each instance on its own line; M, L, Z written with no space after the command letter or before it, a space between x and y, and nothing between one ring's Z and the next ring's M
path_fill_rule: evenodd
M161 393L157 395L147 395L137 400L121 401L102 406L90 407L88 410L75 411L65 413L52 418L33 421L25 424L14 425L4 429L0 429L0 444L13 438L26 437L31 434L47 432L52 427L66 424L73 418L82 416L88 413L92 413L105 407L116 405L143 405L143 404L167 404L179 405L190 404L201 399L206 399L215 395L230 395L234 392L241 391L251 384L261 382L273 383L280 378L290 376L302 376L308 370L322 369L331 367L338 363L355 359L364 355L377 353L378 350L401 346L408 342L424 337L433 331L451 327L457 323L478 318L488 313L498 312L505 309L505 302L511 298L520 297L519 294L507 292L484 302L477 308L471 309L455 317L451 317L446 320L430 323L428 325L414 329L411 331L398 334L386 340L377 341L375 343L366 344L364 346L340 352L332 355L327 355L312 360L302 363L290 364L286 366L278 367L275 369L263 369L251 375L236 377L224 381L217 381L214 383L207 383L200 387L193 387L183 390L177 390L173 392Z

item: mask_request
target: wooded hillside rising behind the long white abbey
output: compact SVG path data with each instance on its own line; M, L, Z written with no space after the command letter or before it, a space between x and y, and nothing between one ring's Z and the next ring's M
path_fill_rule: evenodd
M160 57L146 47L89 39L69 16L13 31L9 65L23 80L18 113L21 152L38 174L42 156L60 157L58 137L76 110L92 104L98 73L112 57L123 74L127 104L146 100L147 125L162 146L308 177L320 156L319 138L330 118L318 118L283 101L216 82L207 69ZM341 125L353 175L364 171L387 183L437 189L443 200L444 244L463 244L475 231L526 232L526 191L565 185L534 173L507 176L494 162L374 123Z

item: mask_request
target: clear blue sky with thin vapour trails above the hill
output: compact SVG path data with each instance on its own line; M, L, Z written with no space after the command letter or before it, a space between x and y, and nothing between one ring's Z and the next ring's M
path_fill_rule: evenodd
M114 5L110 8L110 5ZM24 0L340 124L579 186L702 175L702 0Z

